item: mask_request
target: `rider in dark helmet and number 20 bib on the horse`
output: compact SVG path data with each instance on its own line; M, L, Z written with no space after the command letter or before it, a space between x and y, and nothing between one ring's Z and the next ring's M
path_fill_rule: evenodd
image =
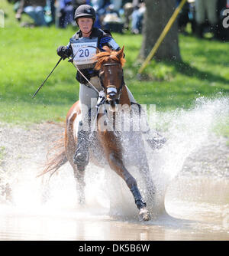
M89 120L88 110L96 106L98 90L102 90L98 71L93 69L95 63L92 58L90 59L90 56L95 54L96 47L102 50L104 46L108 46L112 51L119 51L121 48L114 41L110 32L94 27L96 13L92 6L79 5L74 18L79 26L79 31L70 38L67 46L57 48L57 54L63 60L66 57L73 57L73 61L80 71L77 71L76 80L79 81L79 102L81 103L82 121L79 122L76 153L73 159L80 168L80 166L85 166L89 159L89 130L83 129L83 125ZM85 45L92 46L92 48L82 48ZM91 84L97 90L92 88ZM127 92L131 102L136 103L128 88Z

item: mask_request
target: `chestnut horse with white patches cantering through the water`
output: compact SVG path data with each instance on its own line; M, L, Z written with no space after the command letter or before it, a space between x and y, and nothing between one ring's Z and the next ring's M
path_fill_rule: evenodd
M139 216L141 220L147 221L150 219L150 213L147 209L147 204L144 201L140 191L137 187L137 181L128 172L126 166L124 166L124 148L121 145L121 133L116 132L114 128L115 111L117 106L127 106L131 108L131 102L127 94L127 87L124 84L123 78L123 65L124 65L124 48L120 51L111 51L108 48L104 52L99 52L95 55L96 64L95 69L98 70L98 75L102 84L102 94L100 100L100 107L103 107L102 111L98 111L97 130L94 131L93 142L95 149L90 149L90 161L99 166L98 152L100 156L104 157L108 166L121 176L126 182L128 188L131 190L134 196L134 202L139 209ZM98 108L100 108L98 107ZM123 111L123 108L121 108ZM85 169L77 169L76 164L73 162L73 156L76 152L77 144L77 127L80 120L80 103L77 101L73 104L73 107L69 109L66 116L66 128L64 137L64 149L59 156L56 156L50 164L47 165L46 172L56 172L65 162L69 161L73 166L74 176L76 179L76 187L79 192L79 202L83 203L84 196L84 176ZM106 124L106 128L104 127ZM108 129L110 126L111 129ZM150 181L150 188L152 189L152 182L150 178L149 166L147 164L147 157L144 153L144 141L140 139L137 143L138 154L141 155L139 169L141 174L144 174L147 178L147 182ZM142 149L142 150L141 150ZM105 167L103 165L103 167Z

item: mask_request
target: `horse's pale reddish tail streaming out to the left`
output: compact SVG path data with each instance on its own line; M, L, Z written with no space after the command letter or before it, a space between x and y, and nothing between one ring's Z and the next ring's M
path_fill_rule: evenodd
M51 172L50 176L52 176L54 172L60 169L60 167L68 161L68 159L66 158L66 150L64 147L64 138L56 141L52 147L52 150L49 150L47 155L50 154L50 151L54 152L53 156L51 156L50 159L47 160L47 163L44 166L44 170L40 172L37 177L42 176L47 172Z

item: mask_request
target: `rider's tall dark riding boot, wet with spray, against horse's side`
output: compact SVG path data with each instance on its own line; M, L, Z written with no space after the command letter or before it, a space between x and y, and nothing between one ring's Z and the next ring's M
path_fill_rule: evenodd
M73 162L82 171L89 163L89 135L90 133L84 130L79 130L77 133L77 146Z

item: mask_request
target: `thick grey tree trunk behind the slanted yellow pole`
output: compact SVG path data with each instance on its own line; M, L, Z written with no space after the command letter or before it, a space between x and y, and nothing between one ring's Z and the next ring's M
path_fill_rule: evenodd
M146 3L146 12L144 15L143 43L140 49L140 57L145 59L156 40L160 37L169 18L173 15L173 11L176 8L176 0L145 0L144 2ZM169 33L166 34L166 38L164 38L154 57L158 61L181 61L176 21Z

